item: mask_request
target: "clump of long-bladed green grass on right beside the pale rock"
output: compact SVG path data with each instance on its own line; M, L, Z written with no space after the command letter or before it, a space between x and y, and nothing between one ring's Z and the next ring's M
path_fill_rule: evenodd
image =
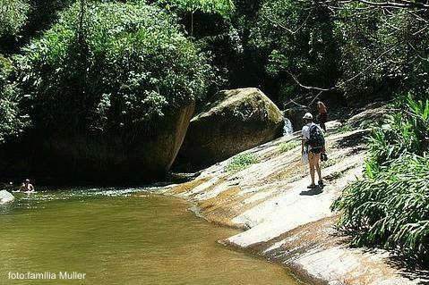
M429 261L429 100L408 97L406 108L369 138L362 179L331 206L355 246L398 250Z

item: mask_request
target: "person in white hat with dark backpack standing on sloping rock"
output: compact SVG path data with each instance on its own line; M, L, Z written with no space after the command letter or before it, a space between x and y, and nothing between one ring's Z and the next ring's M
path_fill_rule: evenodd
M317 171L317 175L319 176L319 186L323 186L320 160L321 154L325 151L325 138L323 137L322 129L313 122L313 115L311 113L305 113L303 119L305 126L302 131L301 152L302 154L308 153L312 184L307 188L313 189L316 187L314 183L315 171Z

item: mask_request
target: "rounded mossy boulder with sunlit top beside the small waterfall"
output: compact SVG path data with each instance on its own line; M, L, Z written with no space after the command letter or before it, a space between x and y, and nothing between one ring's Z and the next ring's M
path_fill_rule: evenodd
M180 154L207 166L281 135L283 116L258 88L223 90L191 120Z

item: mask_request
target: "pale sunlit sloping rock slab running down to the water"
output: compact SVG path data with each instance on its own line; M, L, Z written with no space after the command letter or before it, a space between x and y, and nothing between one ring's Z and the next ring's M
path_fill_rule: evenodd
M230 159L210 166L194 180L171 186L167 194L195 203L204 219L245 231L224 240L285 264L322 284L419 284L427 272L410 272L384 250L350 248L334 228L330 205L340 190L362 175L365 126L380 110L364 111L347 122L328 123L328 155L323 189L308 190L307 166L300 162L297 135L273 140L245 153L259 159L240 172L226 172ZM285 148L284 146L288 146ZM283 147L282 147L283 146ZM286 149L290 148L286 151Z

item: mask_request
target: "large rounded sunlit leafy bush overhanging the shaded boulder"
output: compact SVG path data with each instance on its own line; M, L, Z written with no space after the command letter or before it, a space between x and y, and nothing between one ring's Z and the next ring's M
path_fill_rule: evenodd
M74 4L18 63L36 126L69 134L148 124L204 96L210 79L174 19L142 3Z

